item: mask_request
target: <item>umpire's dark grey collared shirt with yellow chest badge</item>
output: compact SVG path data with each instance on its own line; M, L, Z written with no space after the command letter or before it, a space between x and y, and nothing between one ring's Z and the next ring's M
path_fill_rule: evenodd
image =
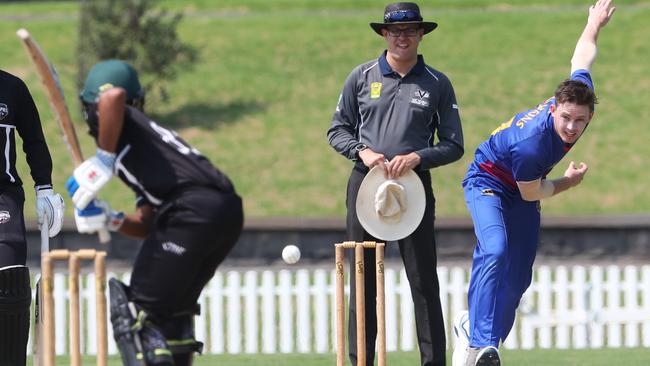
M437 134L438 143L434 143ZM419 170L451 163L463 155L463 131L456 96L449 79L425 65L401 77L386 60L386 52L357 66L339 97L327 132L332 147L356 159L365 144L387 159L416 152Z

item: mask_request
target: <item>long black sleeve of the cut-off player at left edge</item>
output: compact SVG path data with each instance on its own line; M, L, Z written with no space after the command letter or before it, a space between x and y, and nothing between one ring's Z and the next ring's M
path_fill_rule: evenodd
M23 151L36 186L52 184L52 157L45 142L41 120L34 99L24 83L19 83L20 94L16 130L23 140Z

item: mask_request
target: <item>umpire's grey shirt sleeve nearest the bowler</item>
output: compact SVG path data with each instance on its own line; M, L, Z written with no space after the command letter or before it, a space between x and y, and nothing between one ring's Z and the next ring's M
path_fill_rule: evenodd
M464 153L463 129L456 95L451 82L441 78L441 94L438 104L438 124L432 123L433 134L437 128L438 143L416 151L422 162L422 169L431 169L460 159Z

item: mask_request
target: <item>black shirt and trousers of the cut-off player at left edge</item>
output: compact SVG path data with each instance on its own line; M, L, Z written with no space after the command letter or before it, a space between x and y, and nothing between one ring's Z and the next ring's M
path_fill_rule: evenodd
M26 261L25 193L16 171L16 132L36 186L52 188L52 158L34 100L22 80L0 70L0 268Z

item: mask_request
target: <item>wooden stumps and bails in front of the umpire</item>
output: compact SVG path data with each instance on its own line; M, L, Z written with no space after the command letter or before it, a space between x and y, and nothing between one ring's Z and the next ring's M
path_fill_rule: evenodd
M345 249L354 248L356 314L357 314L357 366L366 364L366 308L364 285L364 249L375 249L377 279L377 364L386 365L386 311L384 292L384 243L347 241L335 244L336 252L336 365L345 365ZM352 278L350 278L352 281ZM350 299L352 301L352 299Z

